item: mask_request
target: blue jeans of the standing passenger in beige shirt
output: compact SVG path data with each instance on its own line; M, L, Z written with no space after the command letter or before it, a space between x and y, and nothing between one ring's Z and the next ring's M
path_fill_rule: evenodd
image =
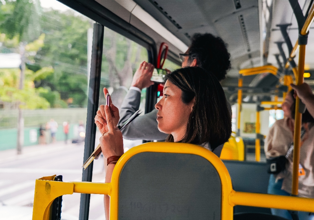
M281 189L283 180L281 179L281 180L278 180L277 182L275 181L276 181L275 175L271 174L268 181L267 193L273 194L273 195L280 195L280 196L290 196L288 192ZM284 217L287 219L292 219L288 210L275 209L275 208L271 208L270 210L272 212L272 215L277 215L277 216ZM299 220L314 220L314 213L311 214L309 212L298 212L298 216L299 216Z

